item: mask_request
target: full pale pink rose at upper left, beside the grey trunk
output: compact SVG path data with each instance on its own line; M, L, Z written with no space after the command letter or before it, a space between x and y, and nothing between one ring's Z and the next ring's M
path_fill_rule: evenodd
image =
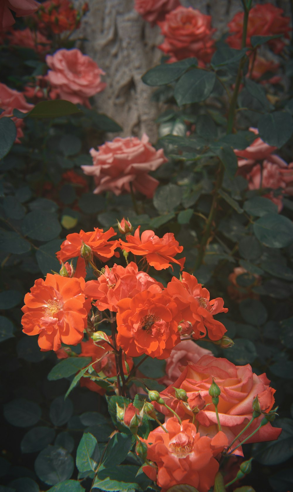
M66 101L90 108L88 98L106 87L101 81L101 75L105 75L105 72L77 48L61 49L53 55L47 55L46 63L52 69L48 72L50 84Z

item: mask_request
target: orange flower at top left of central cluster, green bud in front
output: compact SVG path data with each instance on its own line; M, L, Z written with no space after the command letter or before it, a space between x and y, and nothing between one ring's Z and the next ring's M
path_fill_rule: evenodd
M112 236L116 236L113 227L110 227L106 232L97 227L94 228L94 231L90 232L84 232L81 229L79 234L74 232L66 236L66 240L61 244L61 249L57 251L56 256L60 262L64 262L76 256L92 259L94 255L103 262L106 262L113 255L119 256L118 253L115 253L118 241L108 241ZM87 253L87 256L84 251Z

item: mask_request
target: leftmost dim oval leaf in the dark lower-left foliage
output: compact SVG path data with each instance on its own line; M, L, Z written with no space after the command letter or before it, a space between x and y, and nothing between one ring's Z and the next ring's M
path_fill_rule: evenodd
M37 403L25 398L16 398L3 406L3 414L13 426L30 427L40 420L42 411Z

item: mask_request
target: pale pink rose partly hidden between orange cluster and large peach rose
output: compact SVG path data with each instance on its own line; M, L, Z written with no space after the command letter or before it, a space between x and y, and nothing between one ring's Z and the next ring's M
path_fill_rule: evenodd
M196 364L203 355L212 355L212 352L192 340L182 340L173 348L170 357L166 360L166 374L158 380L159 383L165 386L174 384L188 362Z

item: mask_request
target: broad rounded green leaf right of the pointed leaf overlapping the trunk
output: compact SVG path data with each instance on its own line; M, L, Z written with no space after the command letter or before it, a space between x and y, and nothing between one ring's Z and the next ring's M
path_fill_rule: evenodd
M178 106L204 101L213 91L216 75L214 72L193 68L177 82L174 97Z

